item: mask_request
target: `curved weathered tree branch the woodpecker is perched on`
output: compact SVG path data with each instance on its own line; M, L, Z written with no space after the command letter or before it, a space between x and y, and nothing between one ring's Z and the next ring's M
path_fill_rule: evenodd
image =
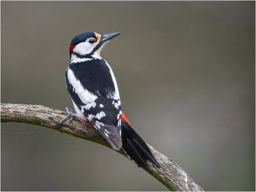
M72 120L72 122L68 122L67 120L58 126L58 122L66 115L67 113L64 111L40 105L1 104L1 122L21 122L41 125L111 148L96 129L86 127L76 118ZM153 164L149 163L153 171L152 176L164 184L164 186L172 191L204 191L196 184L195 180L184 172L178 164L174 163L172 159L164 156L150 145L148 145L148 147L161 166L160 168L156 168ZM123 150L118 152L126 156Z

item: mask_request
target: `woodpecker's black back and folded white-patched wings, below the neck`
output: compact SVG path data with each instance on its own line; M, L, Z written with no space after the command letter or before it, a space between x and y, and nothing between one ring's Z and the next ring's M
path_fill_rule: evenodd
M102 62L74 63L66 72L67 89L77 115L89 120L111 147L119 150L122 111L112 79L108 66Z

